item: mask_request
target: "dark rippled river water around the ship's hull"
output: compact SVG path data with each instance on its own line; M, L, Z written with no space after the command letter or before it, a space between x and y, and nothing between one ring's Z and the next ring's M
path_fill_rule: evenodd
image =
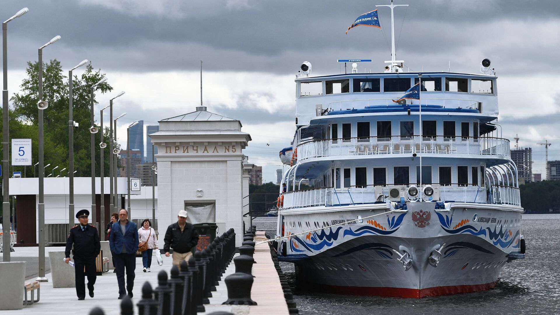
M276 217L253 224L273 231ZM526 258L506 263L487 291L422 299L326 294L297 288L293 264L281 266L300 314L560 314L560 215L526 214L521 224Z

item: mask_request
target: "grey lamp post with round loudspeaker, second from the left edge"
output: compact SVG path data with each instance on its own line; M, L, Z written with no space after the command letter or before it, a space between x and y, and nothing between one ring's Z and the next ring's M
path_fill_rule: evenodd
M43 110L49 107L49 102L43 100L43 48L60 39L54 36L48 43L39 48L39 282L49 281L45 277L45 168L43 166ZM50 164L49 164L50 165Z

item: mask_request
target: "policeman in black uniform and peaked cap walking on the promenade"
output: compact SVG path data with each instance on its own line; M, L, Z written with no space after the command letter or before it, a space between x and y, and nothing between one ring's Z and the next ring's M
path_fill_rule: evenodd
M99 234L95 226L87 224L90 211L80 210L76 217L80 224L70 229L66 242L66 263L70 261L70 250L74 245L74 271L76 272L76 294L78 300L86 298L86 288L84 276L87 276L87 289L90 297L94 297L94 284L96 280L95 258L99 254L101 244ZM84 272L85 270L85 272Z

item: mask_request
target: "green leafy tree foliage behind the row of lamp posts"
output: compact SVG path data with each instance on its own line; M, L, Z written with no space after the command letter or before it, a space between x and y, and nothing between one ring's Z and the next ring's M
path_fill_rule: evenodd
M94 70L91 63L73 72L81 73L80 76L73 75L72 84L73 121L80 124L79 128L74 129L74 170L77 170L76 176L88 177L91 176L90 87L99 82L105 74L100 69ZM32 164L35 164L39 161L39 109L37 108L37 102L39 101L39 63L27 62L26 73L27 77L21 82L20 92L11 98L13 110L10 110L10 139L31 138ZM43 100L49 102L49 107L43 112L44 163L45 165L51 164L49 168L45 169L45 176L50 173L50 169L59 166L55 170L54 177L56 177L59 170L68 168L69 165L68 90L68 77L64 75L60 62L54 59L48 63L43 63ZM113 87L104 82L97 86L96 93L106 93L111 90L113 90ZM96 93L94 93L94 105L97 104L95 99ZM95 112L99 115L99 108L97 106L95 107ZM106 122L106 124L108 123ZM99 127L96 123L94 124ZM100 175L100 137L100 133L95 134L96 176ZM106 129L104 135L105 142L108 142L108 137ZM109 150L104 150L105 175L109 174L109 156ZM15 170L23 172L24 166L15 166ZM33 170L33 166L27 166L27 177L33 176ZM62 175L66 175L66 172L62 173Z

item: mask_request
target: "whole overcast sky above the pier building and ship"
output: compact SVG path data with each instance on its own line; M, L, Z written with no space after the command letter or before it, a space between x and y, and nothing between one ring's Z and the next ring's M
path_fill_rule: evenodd
M199 61L204 67L204 105L240 119L253 141L245 153L276 182L278 151L290 144L295 113L294 75L302 61L315 75L344 71L336 59L370 58L381 72L390 58L390 13L380 8L382 30L357 27L361 13L388 0L6 0L3 19L26 6L29 13L8 24L8 90L18 91L27 61L44 50L71 68L90 59L107 73L119 126L144 125L192 112L199 105ZM483 58L498 75L503 136L519 135L533 148L533 172L560 159L560 1L397 0L398 59L411 71L477 73ZM389 43L386 41L389 40ZM79 73L79 72L78 72ZM101 96L108 104L110 95ZM98 113L98 110L96 109ZM96 119L99 119L98 117ZM120 138L120 141L125 138ZM269 146L267 146L267 143ZM512 148L513 149L513 148Z

